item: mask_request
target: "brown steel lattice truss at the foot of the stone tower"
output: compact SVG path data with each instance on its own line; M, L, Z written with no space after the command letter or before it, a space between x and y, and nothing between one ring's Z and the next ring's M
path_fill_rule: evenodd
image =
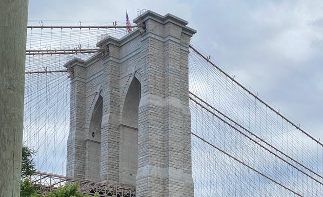
M124 196L134 197L135 189L118 185L97 183L83 179L71 178L68 176L50 174L45 172L35 172L31 176L31 183L39 186L39 193L46 195L46 192L62 187L67 183L79 183L79 189L85 194L98 196Z

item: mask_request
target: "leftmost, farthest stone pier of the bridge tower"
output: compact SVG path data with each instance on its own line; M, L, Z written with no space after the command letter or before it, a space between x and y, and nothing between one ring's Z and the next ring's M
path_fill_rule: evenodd
M64 65L70 71L70 132L67 139L66 175L85 179L86 63L74 58Z

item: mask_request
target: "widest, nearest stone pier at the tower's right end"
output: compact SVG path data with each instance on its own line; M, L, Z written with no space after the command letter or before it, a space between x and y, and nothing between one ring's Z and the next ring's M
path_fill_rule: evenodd
M196 32L172 14L148 11L142 34L136 196L194 196L188 47Z

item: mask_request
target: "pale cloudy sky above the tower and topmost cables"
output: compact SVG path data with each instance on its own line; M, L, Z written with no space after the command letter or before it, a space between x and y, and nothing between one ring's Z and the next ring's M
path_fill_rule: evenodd
M122 21L126 9L131 21L137 9L185 19L197 30L193 44L323 138L322 0L29 0L28 19Z

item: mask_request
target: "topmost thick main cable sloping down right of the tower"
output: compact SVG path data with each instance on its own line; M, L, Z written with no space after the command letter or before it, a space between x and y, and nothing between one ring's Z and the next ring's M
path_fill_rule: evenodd
M251 94L253 97L255 97L260 103L264 104L266 107L268 107L269 109L271 109L272 111L274 111L277 115L279 115L282 119L284 119L285 121L287 121L288 123L290 123L292 126L294 126L295 128L299 129L302 133L306 134L308 137L310 137L313 141L315 141L317 144L319 144L320 146L323 147L323 144L321 142L319 142L319 140L315 139L315 137L313 137L312 135L310 135L308 132L304 131L303 129L300 128L300 126L297 126L295 123L293 123L292 121L290 121L289 119L287 119L287 117L285 117L284 115L280 114L279 111L275 110L274 108L272 108L269 104L267 104L264 100L260 99L256 94L254 94L252 91L250 91L248 88L246 88L245 86L243 86L241 83L239 83L237 80L234 79L234 77L230 76L228 73L226 73L223 69L221 69L220 67L218 67L216 64L214 64L212 61L210 61L209 58L207 58L205 55L203 55L202 53L200 53L195 47L193 47L191 44L189 45L189 47L195 51L198 55L200 55L201 57L203 57L208 63L210 63L214 68L218 69L221 73L225 74L226 77L230 78L230 80L232 80L233 82L235 82L238 86L240 86L241 88L243 88L245 91L247 91L249 94Z

